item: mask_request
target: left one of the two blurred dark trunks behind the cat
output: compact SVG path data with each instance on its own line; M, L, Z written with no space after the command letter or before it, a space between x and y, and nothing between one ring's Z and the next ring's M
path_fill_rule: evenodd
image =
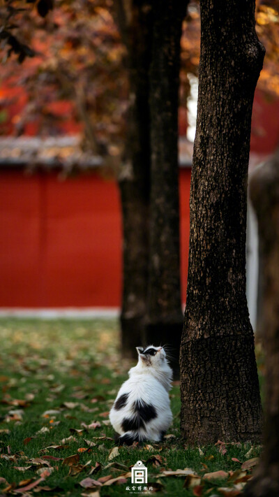
M130 82L126 150L119 175L123 222L121 352L132 357L144 333L149 264L151 6L143 0L116 4L128 50Z

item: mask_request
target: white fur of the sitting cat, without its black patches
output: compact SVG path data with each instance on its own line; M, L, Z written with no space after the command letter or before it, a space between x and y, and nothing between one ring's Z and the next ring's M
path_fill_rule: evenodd
M156 354L150 356L146 351L156 349ZM172 423L172 411L169 407L169 389L172 388L172 369L167 362L163 347L149 345L145 351L137 347L139 354L137 366L129 371L129 379L123 383L119 390L117 399L123 394L129 394L126 405L120 410L112 407L110 411L110 422L116 433L124 435L121 426L123 419L130 419L135 415L133 406L135 401L142 401L152 405L156 410L156 418L144 422L144 426L137 430L127 431L127 435L137 435L137 440L161 440L162 432L167 431ZM145 352L142 354L141 352Z

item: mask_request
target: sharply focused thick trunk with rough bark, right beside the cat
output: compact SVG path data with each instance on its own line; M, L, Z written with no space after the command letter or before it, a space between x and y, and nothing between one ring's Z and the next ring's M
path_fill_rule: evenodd
M255 0L200 4L181 431L190 444L255 442L262 408L246 303L246 183L264 48L255 33Z

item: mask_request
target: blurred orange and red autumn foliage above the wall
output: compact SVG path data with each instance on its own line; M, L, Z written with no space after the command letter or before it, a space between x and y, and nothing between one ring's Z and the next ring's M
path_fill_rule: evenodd
M84 149L117 164L129 90L113 8L112 0L0 2L0 134L80 133ZM258 87L277 96L279 0L257 0L256 19L266 47ZM187 120L188 73L198 73L199 37L199 3L192 0L181 38L181 120Z

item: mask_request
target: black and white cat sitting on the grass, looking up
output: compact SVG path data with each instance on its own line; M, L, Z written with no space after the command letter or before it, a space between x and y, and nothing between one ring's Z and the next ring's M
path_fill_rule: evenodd
M163 347L137 347L137 366L119 390L110 422L119 435L119 444L143 440L160 441L172 423L169 389L172 369Z

